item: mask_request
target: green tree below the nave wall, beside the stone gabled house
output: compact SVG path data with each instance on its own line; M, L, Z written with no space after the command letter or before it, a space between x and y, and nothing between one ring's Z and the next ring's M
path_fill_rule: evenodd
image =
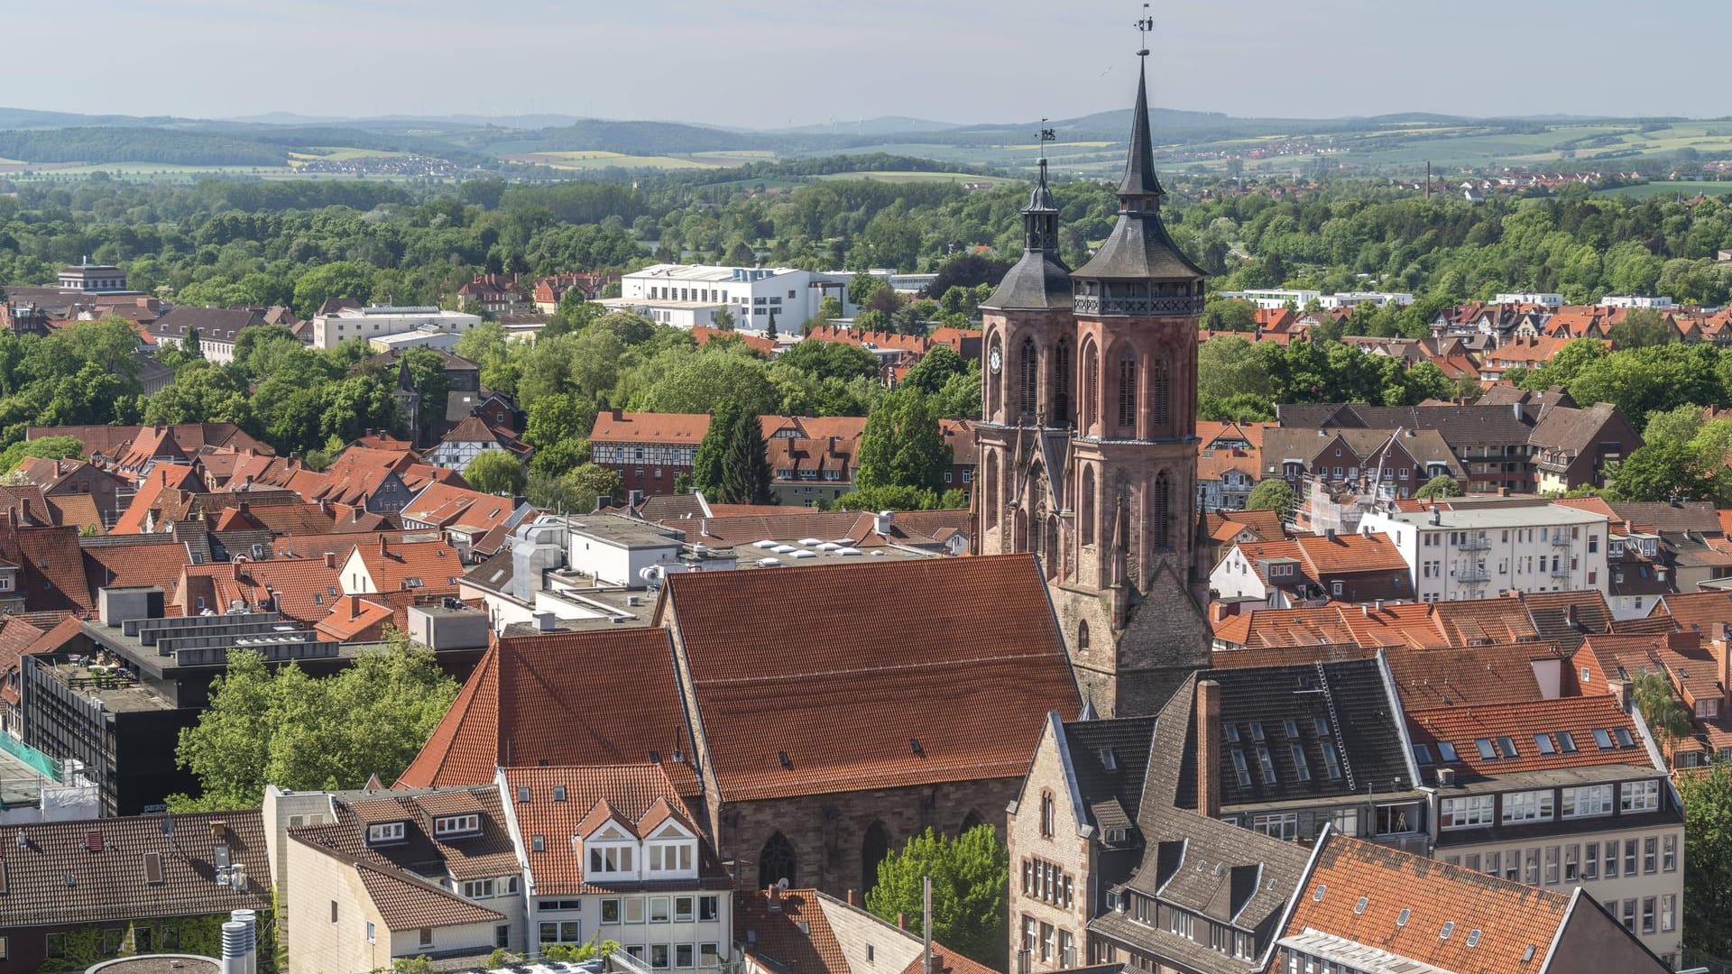
M866 908L883 920L908 917L909 929L925 931L925 879L932 877L932 939L1003 971L1008 960L1010 856L991 825L977 825L956 839L930 827L878 863L878 882L866 891Z

